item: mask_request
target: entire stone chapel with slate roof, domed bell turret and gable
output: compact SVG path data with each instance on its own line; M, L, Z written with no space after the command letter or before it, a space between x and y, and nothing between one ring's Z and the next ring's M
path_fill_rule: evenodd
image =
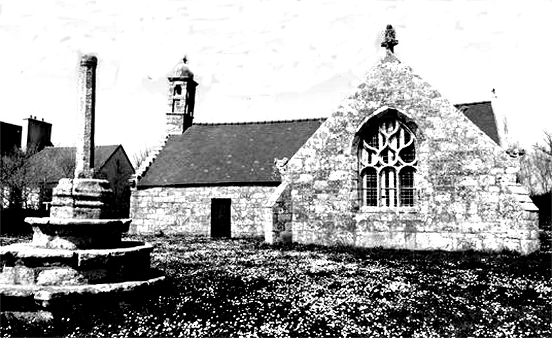
M385 54L331 117L193 123L186 59L135 175L133 232L411 250L538 250L538 209L490 101L453 105Z

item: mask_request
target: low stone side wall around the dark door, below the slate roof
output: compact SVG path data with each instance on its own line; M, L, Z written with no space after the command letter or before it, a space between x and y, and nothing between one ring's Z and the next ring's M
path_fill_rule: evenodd
M232 237L264 235L264 204L274 186L155 187L132 191L130 233L210 235L211 199L230 198Z

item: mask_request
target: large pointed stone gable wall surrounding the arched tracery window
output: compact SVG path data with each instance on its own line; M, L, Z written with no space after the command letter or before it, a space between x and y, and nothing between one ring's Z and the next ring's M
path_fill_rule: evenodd
M386 107L418 127L414 207L359 201L357 131ZM290 189L293 241L527 253L539 245L538 216L515 183L518 169L517 159L388 53L288 161L282 180Z

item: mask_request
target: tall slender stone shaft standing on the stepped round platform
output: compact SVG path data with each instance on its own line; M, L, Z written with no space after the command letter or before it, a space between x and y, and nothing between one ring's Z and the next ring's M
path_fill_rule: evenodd
M94 175L94 123L96 107L97 57L86 54L81 57L77 72L79 110L77 112L77 155L75 178L91 179Z

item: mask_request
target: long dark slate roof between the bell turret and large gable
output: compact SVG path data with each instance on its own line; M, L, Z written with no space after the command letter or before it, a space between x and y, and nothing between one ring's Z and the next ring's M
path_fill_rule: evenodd
M274 159L290 159L325 120L193 124L169 137L138 186L277 185Z

